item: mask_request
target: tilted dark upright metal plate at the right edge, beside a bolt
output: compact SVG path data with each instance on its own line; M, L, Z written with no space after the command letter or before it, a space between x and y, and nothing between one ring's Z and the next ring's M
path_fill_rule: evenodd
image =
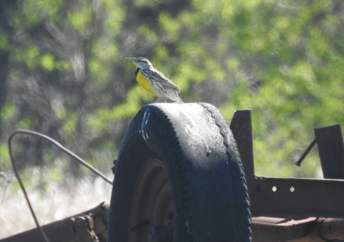
M344 179L344 143L339 124L314 129L324 178Z

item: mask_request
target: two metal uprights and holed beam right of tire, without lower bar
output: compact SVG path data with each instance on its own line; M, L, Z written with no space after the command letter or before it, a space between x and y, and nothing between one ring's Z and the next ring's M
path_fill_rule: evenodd
M250 117L250 110L236 111L230 128L243 162L252 216L344 218L344 180L254 175ZM315 136L322 167L325 167L324 176L344 178L344 145L340 126L315 129Z

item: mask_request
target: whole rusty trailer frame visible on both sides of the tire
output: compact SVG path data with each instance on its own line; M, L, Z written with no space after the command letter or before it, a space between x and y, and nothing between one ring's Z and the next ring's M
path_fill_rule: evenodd
M340 125L315 129L324 179L256 176L250 110L234 113L230 128L243 162L253 242L323 242L344 238L344 143ZM107 240L109 205L42 226L53 241ZM45 241L38 229L0 242Z

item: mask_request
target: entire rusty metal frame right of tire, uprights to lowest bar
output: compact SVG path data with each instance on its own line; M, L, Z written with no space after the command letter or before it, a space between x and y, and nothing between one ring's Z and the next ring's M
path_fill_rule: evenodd
M254 217L254 242L307 242L344 238L344 180L341 180L344 179L344 143L339 124L314 130L326 179L256 176L251 110L236 111L230 129L243 162L251 214ZM269 218L262 223L257 221L259 216ZM290 221L303 217L305 220L276 224L272 222L273 217L290 217ZM332 227L337 228L335 233Z

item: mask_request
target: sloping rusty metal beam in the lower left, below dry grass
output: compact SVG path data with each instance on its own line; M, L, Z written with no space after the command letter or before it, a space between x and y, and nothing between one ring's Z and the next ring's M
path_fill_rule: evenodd
M43 225L41 226L42 230L47 235L50 242L77 241L78 238L80 238L80 234L77 233L76 228L74 227L73 221L75 221L75 217L89 214L93 220L93 231L97 234L97 236L101 238L106 238L109 205L103 204L103 203L100 203L100 205L98 205L97 207L92 208L83 213L79 213L75 216ZM4 239L0 239L0 242L18 242L18 241L41 242L44 240L41 234L39 233L39 231L37 230L37 228L31 229L19 234L15 234L13 236L10 236Z

